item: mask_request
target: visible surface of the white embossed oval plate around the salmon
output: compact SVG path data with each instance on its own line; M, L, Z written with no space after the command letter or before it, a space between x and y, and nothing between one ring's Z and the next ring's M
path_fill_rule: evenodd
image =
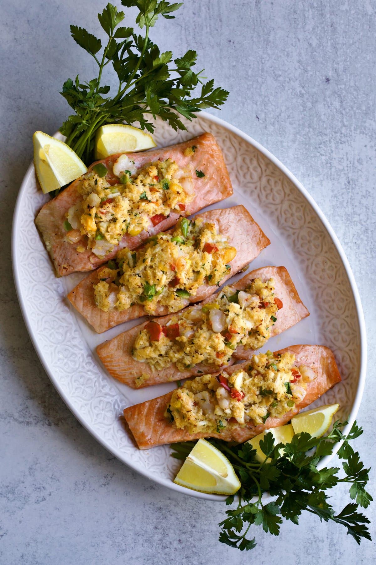
M365 325L351 268L333 229L295 177L266 149L223 120L201 112L188 132L174 132L157 121L154 140L172 145L204 131L222 147L234 194L210 208L243 204L271 240L251 269L283 265L311 315L263 350L294 344L320 344L333 349L342 382L316 401L340 403L339 418L356 418L365 381ZM39 359L60 396L92 435L118 459L171 489L206 499L222 499L172 483L179 463L170 447L140 451L120 418L123 408L165 394L174 384L132 390L113 380L101 366L95 346L139 323L134 320L96 334L65 298L82 279L57 279L34 218L48 195L38 190L30 165L17 198L12 229L12 260L21 310ZM209 209L209 208L208 208ZM238 275L231 281L240 278ZM263 351L262 350L262 351ZM338 446L339 447L339 446ZM324 458L321 466L328 464Z

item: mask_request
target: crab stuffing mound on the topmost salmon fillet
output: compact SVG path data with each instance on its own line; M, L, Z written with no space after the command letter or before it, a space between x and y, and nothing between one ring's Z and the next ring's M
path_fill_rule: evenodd
M107 181L108 169L96 164L78 185L82 201L69 208L67 221L87 237L87 249L98 257L113 250L123 236L136 236L167 218L184 212L192 202L192 176L171 159L136 169L121 155L113 166L117 184Z

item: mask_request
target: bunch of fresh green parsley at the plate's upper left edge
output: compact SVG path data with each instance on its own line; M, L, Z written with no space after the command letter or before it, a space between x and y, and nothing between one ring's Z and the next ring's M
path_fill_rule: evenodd
M98 77L89 82L64 82L61 94L76 112L69 116L60 128L67 137L67 144L89 164L93 158L95 132L101 125L113 123L140 123L142 129L153 132L148 115L160 116L175 130L186 129L179 114L192 120L204 108L218 108L227 99L228 92L214 88L214 81L202 82L202 72L193 71L196 51L189 50L182 58L174 59L171 51L160 53L157 45L149 39L149 29L158 16L173 19L182 3L171 4L166 0L122 0L126 7L137 7L136 23L145 28L145 34L138 35L131 27L119 27L125 18L115 6L108 4L98 19L108 35L105 46L99 38L86 29L70 26L74 41L98 63ZM101 55L99 53L101 52ZM112 64L118 77L118 89L114 97L106 97L110 87L101 85L105 66ZM192 90L200 82L201 94L190 98Z

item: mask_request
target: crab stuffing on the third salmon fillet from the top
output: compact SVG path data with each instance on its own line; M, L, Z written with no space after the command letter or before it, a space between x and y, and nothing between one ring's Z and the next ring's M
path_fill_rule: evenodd
M277 302L283 307L274 295L273 279L254 279L241 292L225 286L213 301L171 317L166 327L178 327L177 336L170 338L162 332L154 340L144 327L136 337L133 358L158 370L172 363L179 371L200 363L210 367L227 365L237 346L256 350L266 343L277 321ZM160 325L157 321L153 324Z

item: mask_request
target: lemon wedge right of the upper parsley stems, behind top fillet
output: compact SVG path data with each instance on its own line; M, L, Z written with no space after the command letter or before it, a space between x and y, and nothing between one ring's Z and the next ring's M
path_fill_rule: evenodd
M114 153L144 151L156 145L149 133L132 125L102 125L95 135L95 159L105 159Z

